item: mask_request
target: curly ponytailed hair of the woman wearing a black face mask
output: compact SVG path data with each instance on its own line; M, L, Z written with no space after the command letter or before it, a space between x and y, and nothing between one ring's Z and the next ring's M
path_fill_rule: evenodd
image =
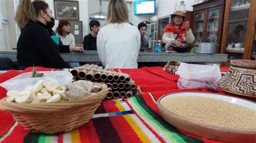
M49 5L44 1L31 2L31 0L20 0L15 15L15 21L20 28L24 28L30 21L37 22L37 16L42 10L45 11Z

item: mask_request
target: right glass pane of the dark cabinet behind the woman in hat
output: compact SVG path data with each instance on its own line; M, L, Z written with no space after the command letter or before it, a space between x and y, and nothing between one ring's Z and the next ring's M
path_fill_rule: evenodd
M208 11L206 42L217 43L217 35L219 29L220 9Z

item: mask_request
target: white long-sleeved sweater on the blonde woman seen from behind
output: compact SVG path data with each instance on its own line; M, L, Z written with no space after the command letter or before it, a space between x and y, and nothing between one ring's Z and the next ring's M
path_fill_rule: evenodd
M138 68L140 33L129 23L107 24L97 35L97 51L105 68Z

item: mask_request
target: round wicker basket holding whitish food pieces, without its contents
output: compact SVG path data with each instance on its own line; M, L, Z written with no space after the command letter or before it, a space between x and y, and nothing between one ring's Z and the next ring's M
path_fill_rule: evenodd
M102 89L95 95L58 103L6 102L5 97L0 102L0 108L10 111L27 130L48 134L69 132L91 119L108 90L106 84L102 84Z

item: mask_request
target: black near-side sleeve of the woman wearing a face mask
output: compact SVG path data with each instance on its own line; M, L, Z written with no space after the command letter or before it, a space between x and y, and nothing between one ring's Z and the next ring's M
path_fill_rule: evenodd
M67 68L68 66L59 55L55 42L51 39L49 33L42 28L37 28L34 32L35 45L42 54L49 67L52 68Z

